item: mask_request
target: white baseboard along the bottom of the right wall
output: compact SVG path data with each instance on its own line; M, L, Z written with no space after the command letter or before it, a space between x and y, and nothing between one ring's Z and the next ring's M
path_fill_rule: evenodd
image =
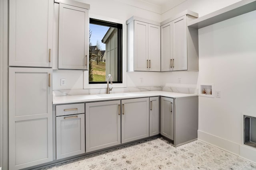
M198 130L198 140L214 145L222 150L236 154L256 164L256 149L246 145L240 145L221 137Z

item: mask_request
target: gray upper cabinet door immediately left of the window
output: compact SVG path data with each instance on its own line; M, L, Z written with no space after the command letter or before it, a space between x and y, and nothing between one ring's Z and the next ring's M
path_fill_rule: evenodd
M60 4L58 68L88 68L88 10Z

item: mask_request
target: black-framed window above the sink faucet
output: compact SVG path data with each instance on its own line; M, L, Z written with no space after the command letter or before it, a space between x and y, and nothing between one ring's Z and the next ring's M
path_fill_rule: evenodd
M122 24L90 18L89 84L122 83Z

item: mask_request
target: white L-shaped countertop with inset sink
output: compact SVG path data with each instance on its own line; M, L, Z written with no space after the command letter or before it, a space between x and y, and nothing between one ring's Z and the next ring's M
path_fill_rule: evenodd
M76 96L54 96L53 104L68 104L79 102L93 102L103 100L120 100L128 98L143 98L151 96L164 96L169 98L182 98L188 96L198 96L198 94L184 94L164 91L146 91L146 92L127 92L127 93L112 93L112 94L88 94Z

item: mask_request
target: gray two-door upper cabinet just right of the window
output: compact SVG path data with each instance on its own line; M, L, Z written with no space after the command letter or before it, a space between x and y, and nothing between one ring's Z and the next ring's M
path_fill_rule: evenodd
M160 23L132 17L127 24L127 70L160 71Z

